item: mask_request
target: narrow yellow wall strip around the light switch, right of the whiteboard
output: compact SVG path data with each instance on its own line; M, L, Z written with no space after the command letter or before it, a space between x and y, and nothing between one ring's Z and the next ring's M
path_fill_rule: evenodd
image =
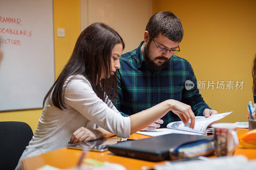
M80 1L54 0L55 78L67 63L80 34ZM65 37L57 37L57 28L65 28Z

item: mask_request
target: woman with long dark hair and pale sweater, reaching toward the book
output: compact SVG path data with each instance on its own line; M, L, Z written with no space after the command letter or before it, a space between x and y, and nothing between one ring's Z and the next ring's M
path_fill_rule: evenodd
M69 141L76 143L113 134L129 137L170 110L185 124L191 119L190 127L194 128L191 107L176 100L166 100L129 117L117 111L108 96L111 93L115 101L115 72L120 68L123 49L120 35L103 23L94 23L80 34L68 63L44 98L36 132L20 160L65 147ZM96 129L96 125L101 128ZM19 168L20 163L16 169Z

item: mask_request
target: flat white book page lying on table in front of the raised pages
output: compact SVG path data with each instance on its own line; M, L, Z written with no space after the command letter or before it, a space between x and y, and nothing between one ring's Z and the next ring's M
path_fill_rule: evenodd
M168 128L159 128L159 129L154 129L154 130L138 131L136 133L151 136L151 137L166 135L166 134L170 134L170 133L179 133L179 134L187 134L187 135L204 135L204 134L198 134L198 133L177 130L177 129L168 129Z

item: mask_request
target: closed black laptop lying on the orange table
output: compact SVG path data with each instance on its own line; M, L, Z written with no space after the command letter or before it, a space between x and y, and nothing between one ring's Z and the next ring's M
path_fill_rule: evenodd
M108 150L121 156L143 159L148 161L162 161L169 159L169 149L185 142L202 139L213 140L210 136L167 134L146 139L121 142L108 146Z

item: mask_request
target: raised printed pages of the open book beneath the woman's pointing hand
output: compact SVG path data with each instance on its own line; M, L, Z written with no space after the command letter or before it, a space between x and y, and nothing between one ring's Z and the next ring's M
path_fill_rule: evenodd
M189 120L189 122L186 125L184 125L182 121L171 122L167 125L167 128L179 129L179 130L185 130L185 131L189 131L189 132L205 134L206 128L209 124L222 119L223 117L229 115L230 113L232 113L232 112L220 113L217 115L212 115L207 118L205 118L205 116L196 116L194 129L189 128L191 120Z

